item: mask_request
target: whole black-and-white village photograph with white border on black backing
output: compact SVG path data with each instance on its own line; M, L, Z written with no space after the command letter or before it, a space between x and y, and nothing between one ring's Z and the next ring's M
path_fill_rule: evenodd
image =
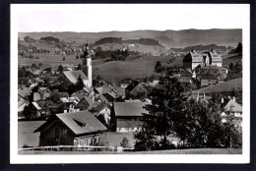
M11 163L248 163L249 11L11 5Z

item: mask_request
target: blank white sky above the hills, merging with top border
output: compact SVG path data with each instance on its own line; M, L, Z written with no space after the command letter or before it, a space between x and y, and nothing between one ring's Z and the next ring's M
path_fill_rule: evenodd
M11 6L21 31L110 31L137 29L241 28L242 4L52 4ZM247 17L247 18L246 18Z

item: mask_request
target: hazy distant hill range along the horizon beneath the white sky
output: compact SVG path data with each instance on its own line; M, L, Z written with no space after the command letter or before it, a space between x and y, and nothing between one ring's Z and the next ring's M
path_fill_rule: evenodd
M19 32L19 37L31 36L39 39L53 36L61 40L90 42L103 37L122 37L125 39L154 38L169 47L185 47L194 44L237 45L242 40L242 29L181 29L181 30L132 30L132 31L104 31L104 32Z

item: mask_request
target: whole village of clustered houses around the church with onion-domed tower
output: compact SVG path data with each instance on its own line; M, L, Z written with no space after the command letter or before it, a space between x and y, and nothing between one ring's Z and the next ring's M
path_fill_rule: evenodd
M233 56L242 55L240 49L239 43ZM232 126L240 135L240 142L232 144L229 140L225 147L241 147L242 60L224 68L224 57L215 49L173 52L181 56L182 66L164 67L159 62L155 67L157 77L124 79L116 84L99 76L93 79L94 51L88 43L79 52L83 58L79 65L63 64L56 70L41 70L35 64L19 68L19 122L43 121L31 133L39 134L38 143L24 143L21 149L58 150L62 146L65 150L136 150L138 140L134 135L145 130L152 112L147 106L155 105L152 94L164 78L177 81L187 100L207 104L220 99L216 104L221 106L222 124L232 116ZM184 143L174 132L163 137L171 143L169 149ZM162 135L156 139L162 139Z

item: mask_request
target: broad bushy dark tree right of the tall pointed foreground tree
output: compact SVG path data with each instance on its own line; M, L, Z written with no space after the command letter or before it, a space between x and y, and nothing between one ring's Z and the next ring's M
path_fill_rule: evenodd
M173 117L173 130L186 147L221 147L224 143L220 101L184 102L184 110Z

